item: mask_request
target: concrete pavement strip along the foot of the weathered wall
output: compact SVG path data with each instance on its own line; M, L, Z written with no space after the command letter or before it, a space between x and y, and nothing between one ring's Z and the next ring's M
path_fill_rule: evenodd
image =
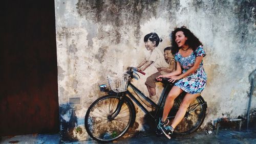
M14 137L4 136L0 143L63 143L60 141L59 134L30 134ZM95 140L66 142L66 143L98 143ZM156 136L150 134L147 136L138 136L133 138L120 138L111 143L256 143L256 129L250 130L232 130L220 129L219 134L215 131L211 134L205 132L196 132L186 138L167 139L165 136Z

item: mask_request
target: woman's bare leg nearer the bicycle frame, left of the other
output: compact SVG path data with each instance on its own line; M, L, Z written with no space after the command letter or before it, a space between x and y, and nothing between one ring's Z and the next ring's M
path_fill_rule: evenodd
M174 105L174 100L178 97L178 95L182 92L183 90L180 89L177 86L173 86L173 88L170 90L170 92L167 95L167 98L164 103L164 108L163 108L163 116L162 116L162 122L165 122L170 109L172 109Z

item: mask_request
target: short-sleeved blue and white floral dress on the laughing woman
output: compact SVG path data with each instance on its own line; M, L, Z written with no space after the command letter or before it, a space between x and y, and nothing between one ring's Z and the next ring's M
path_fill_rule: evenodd
M185 73L189 68L193 67L196 61L196 57L198 56L205 56L205 52L202 46L197 47L197 49L191 53L187 57L182 57L180 53L175 54L175 60L180 63L182 68L182 74ZM178 82L175 83L175 86L178 86L182 90L190 94L200 93L207 81L207 76L203 68L203 61L201 61L198 69L188 75L180 79Z

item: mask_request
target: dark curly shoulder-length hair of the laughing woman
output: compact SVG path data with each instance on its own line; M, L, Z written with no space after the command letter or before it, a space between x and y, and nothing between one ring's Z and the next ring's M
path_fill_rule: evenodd
M175 28L172 32L173 54L178 53L178 51L180 50L180 47L178 47L178 44L175 42L175 35L178 31L182 31L185 37L187 37L185 44L188 44L188 46L192 47L193 51L195 51L198 46L203 45L202 42L185 26L182 26L181 28Z

